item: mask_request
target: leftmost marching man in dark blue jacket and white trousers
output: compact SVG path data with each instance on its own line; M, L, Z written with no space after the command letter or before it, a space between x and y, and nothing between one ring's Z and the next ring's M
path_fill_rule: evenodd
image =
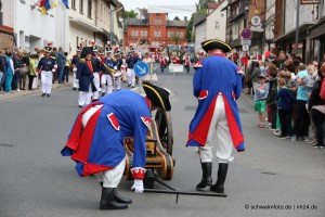
M54 59L50 56L51 43L44 47L44 58L42 58L37 66L37 72L41 73L42 97L50 97L52 91L53 73L56 72L57 65Z

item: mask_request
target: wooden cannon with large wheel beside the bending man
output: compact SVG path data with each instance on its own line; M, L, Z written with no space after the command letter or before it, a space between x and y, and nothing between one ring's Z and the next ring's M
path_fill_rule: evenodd
M125 179L131 180L131 168L133 162L133 138L125 138L126 169ZM161 180L171 180L176 161L172 158L172 125L170 113L158 108L152 122L151 129L146 136L146 163L144 187L154 188L154 181L158 177Z

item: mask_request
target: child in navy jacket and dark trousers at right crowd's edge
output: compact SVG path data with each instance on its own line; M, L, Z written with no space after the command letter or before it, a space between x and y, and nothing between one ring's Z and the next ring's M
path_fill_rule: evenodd
M285 78L278 78L277 87L278 93L275 95L275 100L278 101L277 114L281 123L281 135L275 136L275 138L286 139L288 136L288 130L291 129L291 126L288 126L288 124L291 123L295 97L287 88Z

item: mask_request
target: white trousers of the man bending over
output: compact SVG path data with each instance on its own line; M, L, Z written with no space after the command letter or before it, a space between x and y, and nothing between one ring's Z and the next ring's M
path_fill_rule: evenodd
M84 128L89 118L103 105L95 105L82 115L82 127ZM126 168L126 157L113 169L96 174L104 188L117 188Z

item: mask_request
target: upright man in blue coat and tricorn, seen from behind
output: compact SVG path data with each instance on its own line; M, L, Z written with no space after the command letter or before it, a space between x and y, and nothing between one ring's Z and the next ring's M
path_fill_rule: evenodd
M244 137L236 100L242 91L239 67L226 59L231 47L224 41L212 39L202 43L208 58L198 61L193 78L194 95L198 107L190 125L187 146L198 146L203 177L196 186L224 193L227 165L233 161L233 146L244 151ZM218 181L212 186L212 148L219 159Z

